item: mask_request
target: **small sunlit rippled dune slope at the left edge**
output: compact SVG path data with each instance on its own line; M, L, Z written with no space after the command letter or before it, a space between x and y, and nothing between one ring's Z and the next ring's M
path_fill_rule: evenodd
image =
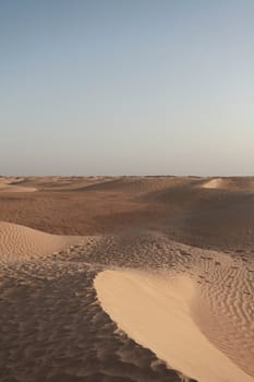
M51 254L77 241L78 237L50 235L28 227L0 222L1 260L20 260Z

